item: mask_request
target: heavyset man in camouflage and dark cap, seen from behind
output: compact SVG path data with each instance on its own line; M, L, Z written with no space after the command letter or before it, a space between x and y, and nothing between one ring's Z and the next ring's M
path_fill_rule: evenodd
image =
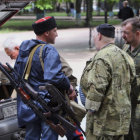
M131 120L133 59L114 45L115 28L101 24L94 29L98 50L83 71L81 87L86 94L87 140L123 140Z

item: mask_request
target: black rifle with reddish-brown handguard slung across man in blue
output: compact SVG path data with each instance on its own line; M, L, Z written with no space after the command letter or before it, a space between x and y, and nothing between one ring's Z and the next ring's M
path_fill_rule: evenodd
M38 92L29 85L29 83L22 79L8 63L6 63L6 65L8 68L0 63L0 70L9 79L16 92L20 94L22 101L28 105L40 119L50 125L50 127L61 137L63 137L67 131L73 132L76 130L75 125L58 114L60 108L62 107L61 103L54 107L49 106L48 103L38 94ZM37 101L42 107L35 104L34 100ZM50 117L50 115L54 119L58 120L59 123L55 124L49 120L48 116Z

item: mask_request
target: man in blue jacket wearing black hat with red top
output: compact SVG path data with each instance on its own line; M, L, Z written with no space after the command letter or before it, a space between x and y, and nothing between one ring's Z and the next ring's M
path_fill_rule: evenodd
M42 18L36 21L32 27L36 34L36 39L26 40L21 44L19 55L15 63L15 70L28 80L29 84L44 98L48 93L40 92L39 86L45 85L45 83L51 83L58 89L66 90L71 96L75 96L68 78L61 71L62 65L59 54L56 49L49 44L54 44L55 38L57 37L57 26L54 17ZM41 44L44 45L42 50L44 70L39 57ZM33 55L31 71L28 75L25 68L26 63L30 52L37 45L39 45L39 47ZM22 102L20 96L17 97L17 110L19 126L26 127L25 140L58 139L58 134L54 132L49 125L40 120L38 116Z

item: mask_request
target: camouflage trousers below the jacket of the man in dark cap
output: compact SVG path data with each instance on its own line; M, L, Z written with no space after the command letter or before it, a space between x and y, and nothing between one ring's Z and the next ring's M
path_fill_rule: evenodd
M124 140L124 136L123 135L119 135L119 136L109 136L109 135L95 136L92 133L87 133L86 140Z

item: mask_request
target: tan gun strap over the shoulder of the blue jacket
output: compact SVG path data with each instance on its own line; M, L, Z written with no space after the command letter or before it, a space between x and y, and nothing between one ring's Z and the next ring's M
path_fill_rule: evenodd
M43 51L43 47L45 46L45 44L38 44L31 50L30 55L28 57L28 60L27 60L26 66L25 66L25 70L24 70L24 79L25 80L28 80L28 78L29 78L33 55L34 55L35 51L37 50L37 48L39 48L40 46L41 46L41 48L40 48L40 52L39 52L39 59L41 62L42 69L44 71L44 63L42 60L42 51Z

